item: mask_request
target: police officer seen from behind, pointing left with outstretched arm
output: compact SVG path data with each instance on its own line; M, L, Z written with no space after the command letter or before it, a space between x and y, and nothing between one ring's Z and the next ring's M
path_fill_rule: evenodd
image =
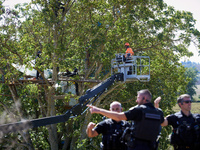
M148 89L137 93L137 106L126 112L116 113L88 105L91 113L102 114L113 120L134 121L134 131L127 142L128 150L154 150L160 132L160 124L164 121L163 112L151 103L152 95Z

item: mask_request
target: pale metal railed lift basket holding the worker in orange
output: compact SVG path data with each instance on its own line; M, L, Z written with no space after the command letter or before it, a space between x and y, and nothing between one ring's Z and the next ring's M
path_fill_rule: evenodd
M116 54L115 59L111 61L111 74L115 73L123 73L124 82L134 80L147 82L150 80L150 58Z

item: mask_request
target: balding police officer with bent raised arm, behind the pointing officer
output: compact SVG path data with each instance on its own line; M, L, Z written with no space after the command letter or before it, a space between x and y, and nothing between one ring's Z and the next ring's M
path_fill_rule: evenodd
M110 104L110 111L122 112L121 103L114 101ZM122 142L121 136L126 127L129 126L127 121L115 121L105 119L97 125L90 122L87 126L86 133L88 137L95 137L102 134L100 147L102 150L126 150L126 145Z

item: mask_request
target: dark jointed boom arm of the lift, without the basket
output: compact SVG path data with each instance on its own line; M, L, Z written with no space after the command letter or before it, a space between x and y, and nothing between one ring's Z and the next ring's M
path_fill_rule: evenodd
M45 118L20 121L16 123L0 125L0 133L7 134L10 132L17 132L21 130L28 130L30 128L36 128L39 126L46 126L50 124L56 124L66 122L70 118L82 115L87 110L87 104L94 103L97 98L109 87L115 80L123 81L123 73L117 73L106 79L102 83L92 89L87 90L86 94L79 98L79 103L73 106L71 109L65 112L63 115L49 116Z

